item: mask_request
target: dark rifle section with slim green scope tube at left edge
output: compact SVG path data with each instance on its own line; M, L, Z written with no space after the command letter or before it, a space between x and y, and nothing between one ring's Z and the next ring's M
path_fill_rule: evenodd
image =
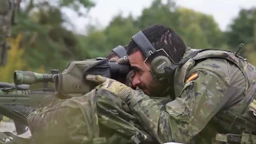
M50 104L55 97L54 87L48 87L48 82L53 82L52 77L56 73L58 70L51 70L51 74L15 71L14 83L0 82L0 106L2 107L0 114L18 122L17 114L26 116L32 111ZM27 85L39 82L42 82L42 90L30 90L30 85Z

